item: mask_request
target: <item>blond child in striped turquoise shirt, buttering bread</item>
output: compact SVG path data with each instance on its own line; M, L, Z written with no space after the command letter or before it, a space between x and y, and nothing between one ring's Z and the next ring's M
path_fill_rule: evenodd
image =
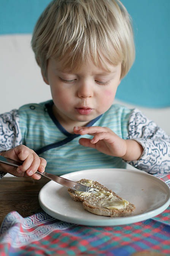
M113 105L135 56L119 0L52 1L32 48L52 100L0 115L0 154L22 163L1 170L34 179L45 167L57 175L126 163L151 174L170 171L168 135L138 109Z

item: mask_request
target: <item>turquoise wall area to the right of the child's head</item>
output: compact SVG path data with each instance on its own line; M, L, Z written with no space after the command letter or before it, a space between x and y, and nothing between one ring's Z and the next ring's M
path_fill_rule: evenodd
M122 3L133 19L136 60L117 98L140 106L170 106L170 0Z

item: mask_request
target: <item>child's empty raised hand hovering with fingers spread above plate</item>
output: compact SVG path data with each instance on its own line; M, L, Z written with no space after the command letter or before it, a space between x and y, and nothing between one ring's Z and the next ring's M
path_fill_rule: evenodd
M92 139L80 138L79 143L84 147L91 147L100 152L121 157L126 161L133 161L140 158L143 148L135 140L124 140L107 127L74 127L75 134L93 135Z

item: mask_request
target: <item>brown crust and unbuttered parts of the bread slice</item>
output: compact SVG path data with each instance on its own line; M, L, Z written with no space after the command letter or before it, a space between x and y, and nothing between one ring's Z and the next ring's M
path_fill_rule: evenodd
M88 180L87 179L81 179L77 181L80 184L85 184ZM92 181L92 187L99 189L99 191L108 191L113 194L118 200L122 200L122 198L114 193L113 191L109 190L108 188L104 187L102 184L100 184L97 181ZM109 217L121 217L121 216L128 216L132 214L132 212L135 209L134 204L130 203L122 208L122 209L107 209L100 206L101 198L98 196L95 196L93 193L90 193L90 195L77 195L75 193L75 190L68 189L68 193L75 201L81 201L83 202L83 208L86 211L89 211L90 213L97 214L97 215L103 215L103 216L109 216Z

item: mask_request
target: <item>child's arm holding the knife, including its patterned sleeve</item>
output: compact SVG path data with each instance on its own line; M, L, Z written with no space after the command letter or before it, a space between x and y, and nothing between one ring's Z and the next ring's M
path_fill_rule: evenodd
M17 177L31 176L40 179L40 175L35 174L38 170L43 172L46 160L40 158L30 148L19 145L22 143L22 135L19 129L19 116L17 110L0 115L0 155L21 162L18 168L0 164L0 177L6 172Z

